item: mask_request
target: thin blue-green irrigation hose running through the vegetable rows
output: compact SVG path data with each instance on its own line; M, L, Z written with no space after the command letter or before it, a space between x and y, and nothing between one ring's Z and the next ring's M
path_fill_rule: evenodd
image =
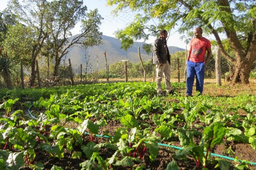
M33 105L31 105L28 109L28 112L30 114L30 116L33 118L33 119L37 119L35 118L35 116L33 116L30 112L30 109L32 108ZM87 132L84 132L85 134L90 134L90 133L87 133ZM103 136L103 135L95 135L97 137L103 137L103 138L108 138L109 139L109 136ZM111 136L113 138L113 136ZM174 149L177 149L177 150L183 150L182 147L177 147L177 146L173 146L173 145L169 145L169 144L162 144L162 143L157 143L159 146L164 146L164 147L172 147ZM204 152L206 153L206 152ZM219 155L219 154L216 154L216 153L211 153L211 156L216 156L216 157L219 157L219 158L223 158L223 159L228 159L230 161L239 161L239 162L242 162L243 160L241 159L234 159L234 158L231 158L231 157L228 157L228 156L223 156L223 155ZM246 164L250 164L250 165L256 165L256 162L250 162L250 161L245 161Z

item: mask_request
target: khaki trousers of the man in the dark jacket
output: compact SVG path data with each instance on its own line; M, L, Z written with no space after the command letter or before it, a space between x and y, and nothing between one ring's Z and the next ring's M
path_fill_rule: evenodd
M166 64L163 64L163 66L157 64L157 93L162 92L162 76L164 76L166 92L169 93L172 91L172 85L170 82L170 64L168 61L166 61Z

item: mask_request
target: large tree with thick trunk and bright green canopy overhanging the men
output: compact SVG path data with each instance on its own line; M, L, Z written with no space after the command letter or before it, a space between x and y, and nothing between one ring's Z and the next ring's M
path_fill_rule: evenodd
M108 0L117 5L114 12L130 8L140 11L135 20L116 32L122 48L134 40L148 40L158 31L170 31L179 25L179 33L201 26L204 34L213 34L224 57L232 63L232 83L249 83L249 74L256 61L256 3L253 0ZM148 25L156 18L158 25ZM225 34L227 39L221 40ZM192 36L192 32L189 32Z

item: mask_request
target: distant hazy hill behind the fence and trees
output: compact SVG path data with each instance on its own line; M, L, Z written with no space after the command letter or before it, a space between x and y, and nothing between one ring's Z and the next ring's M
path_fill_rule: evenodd
M73 37L70 37L72 39ZM144 61L150 60L151 55L147 55L145 51L143 51L143 44L145 42L134 42L134 45L132 45L131 48L129 48L127 51L121 49L121 41L113 38L108 37L105 35L102 35L103 44L98 46L89 47L86 50L86 56L88 57L89 52L90 54L90 62L92 65L92 69L97 68L97 62L96 62L96 55L98 55L98 61L99 61L99 69L105 68L105 57L104 57L104 51L107 53L107 60L108 65L111 65L115 62L119 62L121 60L129 60L130 62L139 62L138 57L138 47L140 47L141 57ZM176 51L185 51L185 49L170 46L168 47L170 54L175 53ZM74 46L73 48L69 49L69 53L67 54L67 59L70 58L72 65L79 66L80 64L85 65L85 58L84 58L85 50L80 48L79 45Z

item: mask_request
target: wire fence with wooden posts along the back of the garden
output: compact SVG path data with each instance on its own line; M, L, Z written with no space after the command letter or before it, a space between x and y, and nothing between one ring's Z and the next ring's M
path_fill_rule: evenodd
M106 70L106 65L101 64L99 65L98 62L92 62L93 57L90 58L90 60L87 62L87 66L84 63L80 64L72 64L72 74L75 79L76 84L87 84L87 83L93 83L98 82L99 79L113 79L113 78L125 78L125 69L124 69L124 62L121 61L112 61L108 64L108 71ZM104 61L105 62L105 61ZM47 74L48 68L47 68L47 62L44 60L40 61L39 71L40 71L40 79L42 82L45 82L43 86L46 86L47 83L49 86L51 85L71 85L70 81L70 65L67 64L68 62L64 62L59 66L59 76L58 78L52 77L53 70L54 70L54 64L49 64L49 77ZM156 77L156 67L152 64L151 56L148 57L147 60L143 60L145 71L146 71L146 78L147 79L153 79ZM230 68L232 68L232 65L225 59L223 56L221 56L221 79L224 79L228 76L230 73ZM29 78L30 78L30 68L24 67L24 80L25 80L25 86L29 87ZM171 78L172 79L178 79L180 78L180 82L183 82L186 80L186 51L178 51L175 54L171 54L171 65L170 65L170 71L171 71ZM13 86L21 86L20 81L20 74L17 74L20 72L20 65L17 65L15 67L15 70L13 70L14 74L11 74L12 78L12 84ZM208 64L205 68L205 78L206 79L215 79L215 54L210 58ZM140 64L140 59L134 59L127 62L127 75L128 79L133 78L143 78L144 77L144 70ZM256 79L256 62L253 63L253 67L250 71L250 79ZM37 77L36 77L37 80ZM125 80L123 80L125 81ZM38 86L38 81L35 83L35 87ZM5 81L3 77L0 76L0 88L6 87Z

